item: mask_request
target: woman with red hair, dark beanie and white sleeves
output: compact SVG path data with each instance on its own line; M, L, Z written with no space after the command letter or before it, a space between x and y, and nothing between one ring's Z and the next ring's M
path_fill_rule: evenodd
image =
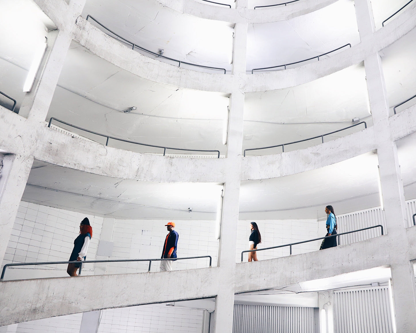
M92 227L89 225L88 217L86 217L79 224L79 236L74 240L74 249L72 250L71 257L69 257L69 261L79 261L79 263L68 264L67 273L69 276L78 276L77 269L81 267L81 261L85 260L91 237Z

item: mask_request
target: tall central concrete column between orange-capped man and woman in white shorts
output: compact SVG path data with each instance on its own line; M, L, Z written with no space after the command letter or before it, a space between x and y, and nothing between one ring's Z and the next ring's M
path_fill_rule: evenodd
M244 10L247 1L237 2L238 10ZM215 332L233 331L235 251L237 248L237 225L240 196L241 150L243 148L243 111L245 83L245 54L247 24L234 27L233 79L235 90L230 96L226 175L224 184L221 233L218 247L218 266L222 283L215 302Z

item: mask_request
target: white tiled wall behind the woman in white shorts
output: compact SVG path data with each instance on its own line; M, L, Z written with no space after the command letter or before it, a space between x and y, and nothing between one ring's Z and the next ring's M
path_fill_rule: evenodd
M317 220L240 220L238 221L237 229L236 262L241 262L241 252L249 249L250 222L256 222L258 224L262 237L262 242L257 246L257 249L301 242L319 237ZM299 244L292 247L292 254L306 253L318 249L317 245L313 243ZM259 260L265 260L284 257L289 254L289 247L283 247L260 251L257 253L257 258ZM243 261L247 261L247 258L248 254L245 253Z

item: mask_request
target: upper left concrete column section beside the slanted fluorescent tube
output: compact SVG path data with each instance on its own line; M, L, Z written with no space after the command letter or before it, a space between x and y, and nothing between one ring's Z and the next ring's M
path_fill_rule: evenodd
M45 121L52 97L58 83L72 41L72 31L76 29L76 19L81 14L86 0L72 0L68 11L62 13L63 20L59 31L48 33L47 50L38 70L32 91L27 93L19 114L33 121Z

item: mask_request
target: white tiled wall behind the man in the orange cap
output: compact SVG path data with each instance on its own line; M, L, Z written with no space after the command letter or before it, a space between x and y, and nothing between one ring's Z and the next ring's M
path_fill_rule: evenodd
M110 259L148 259L160 258L163 242L168 234L165 224L169 220L116 220L114 224L113 256ZM214 221L175 221L179 234L178 257L197 257L210 255L212 265L216 266L218 240L215 237ZM209 259L177 260L173 269L208 267ZM160 261L154 261L151 271L158 271ZM149 261L143 263L109 263L108 274L136 273L149 269Z

